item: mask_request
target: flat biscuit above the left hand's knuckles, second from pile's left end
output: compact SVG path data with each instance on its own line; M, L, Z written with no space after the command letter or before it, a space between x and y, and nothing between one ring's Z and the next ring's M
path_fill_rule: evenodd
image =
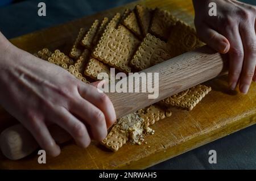
M60 52L60 50L55 50L54 53L51 54L51 57L48 58L48 61L52 64L62 65L62 64L73 64L73 60L66 56L64 53Z

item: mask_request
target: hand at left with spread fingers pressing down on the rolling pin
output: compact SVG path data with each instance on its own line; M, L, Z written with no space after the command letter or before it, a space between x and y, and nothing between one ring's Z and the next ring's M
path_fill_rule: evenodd
M108 96L59 66L11 44L3 54L0 104L32 133L49 155L60 154L48 131L50 124L65 129L83 148L91 139L101 141L107 136L107 128L116 119Z

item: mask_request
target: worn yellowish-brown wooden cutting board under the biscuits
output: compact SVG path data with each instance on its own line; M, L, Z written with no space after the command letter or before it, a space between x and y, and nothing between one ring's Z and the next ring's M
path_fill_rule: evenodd
M112 17L116 12L133 8L137 3L147 7L160 7L193 26L193 6L184 0L146 0L100 12L61 26L48 28L10 40L17 47L35 53L48 47L68 52L79 28L89 28L94 19ZM185 151L195 149L256 122L256 83L249 94L229 91L227 77L206 83L212 91L191 111L172 109L172 116L156 123L153 136L147 144L125 145L113 153L96 142L88 149L78 148L73 142L62 146L57 158L47 157L46 164L38 163L37 153L20 161L10 161L0 155L1 169L145 169ZM125 100L123 100L125 103ZM10 125L13 118L0 108L0 130Z

